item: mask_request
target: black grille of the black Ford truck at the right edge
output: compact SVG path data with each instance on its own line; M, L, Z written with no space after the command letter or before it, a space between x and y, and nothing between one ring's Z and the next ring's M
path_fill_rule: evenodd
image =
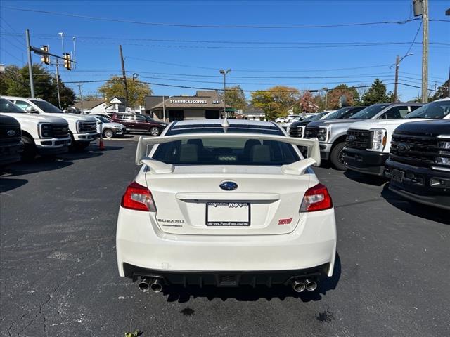
M420 134L394 133L392 135L390 159L413 166L430 167L434 164L435 157L442 157L439 154L437 140L436 137Z

